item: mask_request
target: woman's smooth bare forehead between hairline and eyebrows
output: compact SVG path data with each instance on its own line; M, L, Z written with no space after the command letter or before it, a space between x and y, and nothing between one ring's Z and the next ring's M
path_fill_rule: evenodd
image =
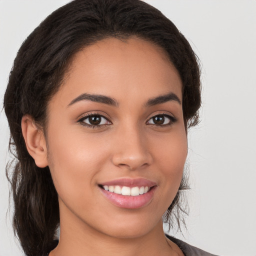
M178 71L160 47L139 38L106 38L72 57L56 94L62 100L79 93L133 99L140 94L142 100L171 91L182 100L181 87Z

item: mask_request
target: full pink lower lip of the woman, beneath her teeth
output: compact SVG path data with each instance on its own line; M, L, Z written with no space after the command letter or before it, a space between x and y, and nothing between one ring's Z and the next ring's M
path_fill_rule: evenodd
M137 209L147 205L151 201L155 191L155 187L156 186L151 187L150 190L144 194L135 196L116 194L106 191L104 188L101 187L100 189L103 195L114 205L120 208Z

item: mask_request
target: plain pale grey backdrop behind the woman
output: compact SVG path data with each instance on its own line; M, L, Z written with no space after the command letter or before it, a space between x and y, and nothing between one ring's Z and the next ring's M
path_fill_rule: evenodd
M0 0L0 104L15 54L68 0ZM177 237L223 256L256 255L256 1L147 0L169 17L201 60L201 122L189 131L190 214ZM0 113L0 256L20 256L11 228Z

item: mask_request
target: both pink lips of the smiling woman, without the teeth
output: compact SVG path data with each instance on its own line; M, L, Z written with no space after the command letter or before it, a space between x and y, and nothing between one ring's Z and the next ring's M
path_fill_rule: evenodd
M120 208L137 209L147 205L153 198L156 183L145 178L121 178L102 182L100 185L119 185L119 186L148 186L151 187L148 192L136 196L116 194L106 191L99 186L102 194L114 205Z

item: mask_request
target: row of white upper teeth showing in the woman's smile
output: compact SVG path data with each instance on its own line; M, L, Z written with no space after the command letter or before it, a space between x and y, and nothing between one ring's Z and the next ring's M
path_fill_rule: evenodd
M107 186L107 185L103 185L103 188L106 191L109 192L114 192L116 194L122 194L122 195L132 195L132 196L136 196L139 194L144 194L149 190L148 186L133 186L133 187L128 187L128 186Z

